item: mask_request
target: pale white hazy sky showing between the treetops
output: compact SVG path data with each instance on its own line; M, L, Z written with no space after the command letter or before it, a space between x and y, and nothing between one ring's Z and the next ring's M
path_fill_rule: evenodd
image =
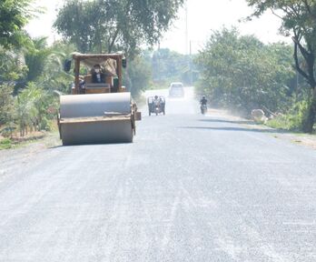
M40 15L32 21L26 29L33 36L47 35L50 42L58 36L52 31L56 8L60 7L63 0L42 0L38 5L44 6L46 14ZM171 30L162 39L161 47L168 47L180 53L189 52L191 42L193 53L202 48L209 38L212 30L221 29L225 26L236 26L242 35L256 35L264 43L277 41L290 41L278 35L278 28L281 21L275 15L263 15L260 19L253 19L251 22L239 22L241 18L252 13L252 9L246 5L245 0L187 0L187 37L186 37L186 15L185 8L179 12L179 19L174 22Z

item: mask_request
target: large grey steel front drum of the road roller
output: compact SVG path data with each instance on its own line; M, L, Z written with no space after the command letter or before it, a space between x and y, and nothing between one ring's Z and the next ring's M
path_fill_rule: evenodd
M131 114L130 93L61 96L63 145L132 143L132 118L102 119L104 112Z

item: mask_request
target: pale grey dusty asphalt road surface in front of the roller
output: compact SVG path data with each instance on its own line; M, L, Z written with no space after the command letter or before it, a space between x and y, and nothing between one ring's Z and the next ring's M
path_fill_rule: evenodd
M0 261L316 261L316 151L190 92L133 144L0 152Z

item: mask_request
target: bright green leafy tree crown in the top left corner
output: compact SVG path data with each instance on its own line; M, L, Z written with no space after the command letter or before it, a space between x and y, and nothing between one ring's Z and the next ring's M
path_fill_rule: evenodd
M5 48L24 44L23 27L34 14L32 0L2 0L0 2L0 45Z

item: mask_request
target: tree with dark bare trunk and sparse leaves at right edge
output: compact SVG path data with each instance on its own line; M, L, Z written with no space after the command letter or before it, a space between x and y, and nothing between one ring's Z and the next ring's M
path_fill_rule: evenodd
M247 0L255 8L255 16L272 10L282 20L280 31L284 35L292 34L294 43L294 61L296 70L311 86L312 98L304 131L311 133L316 119L316 2L314 0ZM278 14L278 11L281 11ZM300 63L303 59L304 63Z

